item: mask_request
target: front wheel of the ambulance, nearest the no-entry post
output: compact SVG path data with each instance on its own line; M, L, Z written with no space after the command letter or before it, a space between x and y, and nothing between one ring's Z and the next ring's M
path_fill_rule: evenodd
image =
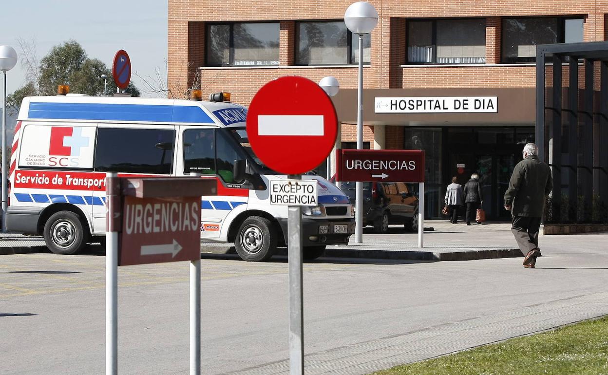
M249 262L269 260L277 249L277 231L260 216L250 216L238 229L234 243L238 256Z

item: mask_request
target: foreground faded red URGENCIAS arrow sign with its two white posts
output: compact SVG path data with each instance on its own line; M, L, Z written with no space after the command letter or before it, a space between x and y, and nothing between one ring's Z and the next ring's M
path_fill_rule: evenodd
M190 374L200 375L201 195L217 194L217 183L200 175L106 177L106 375L118 373L118 267L176 261L190 261Z

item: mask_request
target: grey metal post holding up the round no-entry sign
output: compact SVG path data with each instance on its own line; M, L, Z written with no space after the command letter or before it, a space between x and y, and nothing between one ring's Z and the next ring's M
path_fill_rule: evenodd
M290 175L301 180L302 176ZM304 373L304 303L302 291L302 207L288 207L289 373Z

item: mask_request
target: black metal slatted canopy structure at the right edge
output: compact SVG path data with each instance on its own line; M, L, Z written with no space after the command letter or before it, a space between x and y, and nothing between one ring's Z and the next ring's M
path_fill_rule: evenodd
M536 143L553 170L548 221L606 222L608 41L536 46Z

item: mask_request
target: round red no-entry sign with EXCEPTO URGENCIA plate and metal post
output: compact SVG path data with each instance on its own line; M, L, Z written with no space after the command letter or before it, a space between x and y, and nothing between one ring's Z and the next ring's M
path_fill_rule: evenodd
M264 164L292 179L271 182L271 204L288 206L289 368L291 375L300 375L304 373L304 320L302 208L297 205L317 205L317 182L311 186L300 174L319 166L336 145L336 108L313 81L280 77L266 83L252 99L247 135Z

